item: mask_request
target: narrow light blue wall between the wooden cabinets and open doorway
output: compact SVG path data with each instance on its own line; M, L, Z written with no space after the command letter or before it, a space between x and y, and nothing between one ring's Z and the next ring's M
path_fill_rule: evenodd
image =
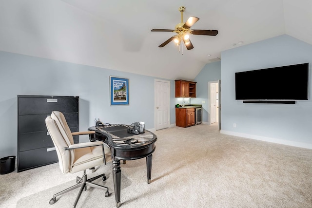
M203 107L203 122L208 122L210 99L208 98L208 82L221 79L221 61L208 63L195 77L196 98L191 98L192 104L200 104ZM222 85L222 84L221 84ZM205 103L202 103L205 101Z

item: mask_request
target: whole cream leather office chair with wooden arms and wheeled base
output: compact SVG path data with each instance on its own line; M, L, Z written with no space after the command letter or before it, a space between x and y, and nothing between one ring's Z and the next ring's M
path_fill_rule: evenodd
M102 165L103 163L106 164L106 159L110 159L109 147L100 141L74 144L73 135L90 134L95 132L72 133L63 113L58 111L52 112L51 116L48 116L45 119L45 123L58 154L60 170L63 173L75 173L83 170L83 176L81 178L77 177L76 185L54 194L49 203L51 205L54 204L57 196L80 187L80 191L73 206L76 207L82 191L87 188L86 186L106 190L105 196L109 196L107 187L91 183L91 181L94 181L99 177L103 177L102 180L105 181L105 174L100 174L90 179L87 179L86 174L86 169Z

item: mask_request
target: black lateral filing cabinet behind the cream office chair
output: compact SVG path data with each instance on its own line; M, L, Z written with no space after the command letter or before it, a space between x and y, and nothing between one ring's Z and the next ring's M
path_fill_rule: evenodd
M78 96L18 95L18 172L59 161L45 125L52 111L64 114L71 132L79 131Z

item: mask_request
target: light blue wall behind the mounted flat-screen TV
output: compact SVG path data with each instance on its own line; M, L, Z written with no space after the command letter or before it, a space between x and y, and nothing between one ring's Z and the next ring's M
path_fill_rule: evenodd
M306 62L310 63L309 100L296 104L244 104L235 100L235 72ZM222 52L221 132L312 149L311 63L312 45L287 35ZM296 80L290 84L295 85Z

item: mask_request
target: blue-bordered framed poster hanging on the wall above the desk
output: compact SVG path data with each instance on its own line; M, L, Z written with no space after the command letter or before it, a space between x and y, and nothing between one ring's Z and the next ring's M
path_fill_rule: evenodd
M129 105L129 79L110 76L111 105Z

